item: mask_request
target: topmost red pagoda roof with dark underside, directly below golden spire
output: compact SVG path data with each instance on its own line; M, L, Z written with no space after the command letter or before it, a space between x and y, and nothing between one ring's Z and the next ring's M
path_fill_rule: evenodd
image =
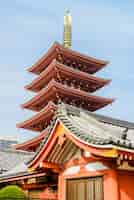
M80 69L88 73L95 73L108 64L107 61L95 59L79 52L73 51L69 48L65 48L63 45L55 42L48 50L48 52L39 59L32 67L28 69L29 72L40 74L53 59L57 61L72 65L73 67Z

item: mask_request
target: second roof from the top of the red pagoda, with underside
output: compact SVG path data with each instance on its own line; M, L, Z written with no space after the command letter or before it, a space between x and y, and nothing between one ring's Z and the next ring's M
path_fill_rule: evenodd
M49 64L46 70L25 88L34 92L39 92L52 79L63 84L67 83L70 86L74 85L76 88L81 88L88 92L94 92L110 82L110 80L99 78L61 64L55 59Z

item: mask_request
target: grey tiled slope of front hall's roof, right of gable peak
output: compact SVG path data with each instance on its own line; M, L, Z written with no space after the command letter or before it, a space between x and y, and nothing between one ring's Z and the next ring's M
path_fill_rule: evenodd
M78 110L76 112L75 109L73 110L73 107L66 111L65 108L59 109L57 118L77 137L89 144L102 146L111 144L134 149L134 124L129 129L128 126L126 127L126 124L124 124L124 127L120 127L119 123L114 125L111 121L112 126L110 126L102 121L100 122L91 113L78 112ZM123 139L124 133L127 134L126 139Z

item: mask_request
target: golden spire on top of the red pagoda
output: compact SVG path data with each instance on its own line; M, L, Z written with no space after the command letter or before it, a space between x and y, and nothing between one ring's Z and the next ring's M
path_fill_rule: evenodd
M64 47L70 48L72 42L72 17L70 11L67 10L64 15Z

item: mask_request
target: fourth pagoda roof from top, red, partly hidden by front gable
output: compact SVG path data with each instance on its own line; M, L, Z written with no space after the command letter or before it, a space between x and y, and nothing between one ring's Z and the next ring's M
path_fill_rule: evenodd
M36 129L31 127L39 123L40 121L45 120L50 116L53 116L56 108L57 106L53 102L49 101L48 104L39 113L35 114L34 116L29 118L28 120L25 120L24 122L18 123L16 127L37 131Z

